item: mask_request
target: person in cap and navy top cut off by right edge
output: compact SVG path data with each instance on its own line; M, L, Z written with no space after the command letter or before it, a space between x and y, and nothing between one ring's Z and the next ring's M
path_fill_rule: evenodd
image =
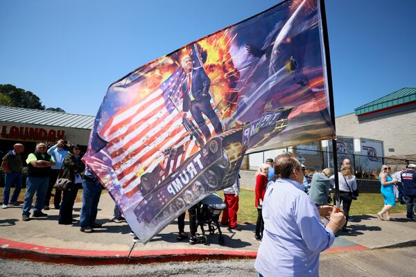
M406 217L416 221L416 164L410 163L406 170L401 172L401 182L404 188L404 199L406 200Z

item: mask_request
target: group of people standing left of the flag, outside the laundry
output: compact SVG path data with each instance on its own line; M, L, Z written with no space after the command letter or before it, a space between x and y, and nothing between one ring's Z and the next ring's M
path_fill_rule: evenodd
M21 157L23 152L24 145L17 143L3 157L1 167L5 171L5 188L1 208L20 205L17 198L21 190L22 170L26 162L26 193L22 208L22 221L27 222L33 217L48 217L43 211L50 209L53 187L57 179L67 179L69 186L65 190L55 189L53 197L54 208L59 209L58 224L66 225L77 222L72 214L73 204L78 190L83 188L80 231L91 233L94 228L101 226L96 222L96 215L102 186L81 161L80 145L69 144L61 139L48 149L46 143L37 143L35 151L28 154L26 161ZM9 202L12 184L15 184L15 190ZM35 204L32 205L35 195ZM32 208L33 214L31 214Z

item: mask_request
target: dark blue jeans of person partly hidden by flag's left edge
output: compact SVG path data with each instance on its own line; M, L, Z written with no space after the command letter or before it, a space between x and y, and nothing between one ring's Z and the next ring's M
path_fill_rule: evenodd
M81 228L93 224L97 217L98 202L101 197L101 184L98 181L83 180L83 208L81 208Z

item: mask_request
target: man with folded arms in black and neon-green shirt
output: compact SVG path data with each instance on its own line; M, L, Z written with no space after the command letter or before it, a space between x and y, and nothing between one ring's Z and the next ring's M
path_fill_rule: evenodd
M46 217L42 213L46 191L48 190L51 166L55 166L53 157L46 153L46 144L38 143L34 153L28 155L28 177L26 178L26 194L24 195L23 213L21 220L30 220L33 195L36 193L36 202L33 207L33 217Z

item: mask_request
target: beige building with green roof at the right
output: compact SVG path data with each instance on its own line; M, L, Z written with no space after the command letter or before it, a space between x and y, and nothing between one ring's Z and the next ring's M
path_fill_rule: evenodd
M383 141L383 156L416 159L416 88L404 88L335 120L338 136Z

